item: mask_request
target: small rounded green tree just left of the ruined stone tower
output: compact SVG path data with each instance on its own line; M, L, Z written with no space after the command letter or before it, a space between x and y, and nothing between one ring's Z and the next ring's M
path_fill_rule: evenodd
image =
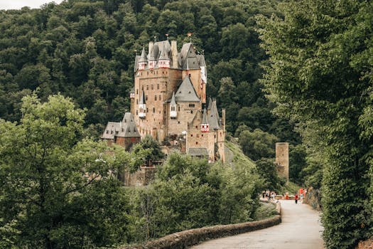
M273 134L263 132L261 129L255 129L254 132L246 130L239 134L239 144L242 151L255 161L262 157L274 157L274 144L278 140Z

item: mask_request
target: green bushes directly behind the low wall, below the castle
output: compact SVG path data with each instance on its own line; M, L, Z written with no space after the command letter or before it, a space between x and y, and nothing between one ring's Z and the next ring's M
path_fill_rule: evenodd
M131 194L134 241L219 223L250 221L258 206L252 166L208 164L173 153L148 187Z

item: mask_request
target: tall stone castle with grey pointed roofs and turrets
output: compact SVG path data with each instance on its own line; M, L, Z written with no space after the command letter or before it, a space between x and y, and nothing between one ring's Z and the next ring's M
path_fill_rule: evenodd
M122 122L109 122L102 139L123 141L121 145L129 148L146 135L158 142L185 137L188 154L225 161L225 110L220 118L215 100L206 105L205 56L196 53L193 43L183 44L178 52L176 41L149 42L148 53L143 48L136 55L134 75L131 113ZM128 120L134 122L131 128ZM133 131L134 137L122 129ZM125 134L126 139L121 137Z

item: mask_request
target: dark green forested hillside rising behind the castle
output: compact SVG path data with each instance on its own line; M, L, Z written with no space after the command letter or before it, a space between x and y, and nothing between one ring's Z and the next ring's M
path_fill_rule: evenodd
M99 137L102 124L129 110L136 51L166 33L182 46L191 32L207 61L207 94L227 109L228 132L259 128L298 143L258 82L266 55L254 16L270 16L278 2L66 0L0 11L0 118L19 120L21 97L32 90L42 100L60 92L87 108L87 134Z

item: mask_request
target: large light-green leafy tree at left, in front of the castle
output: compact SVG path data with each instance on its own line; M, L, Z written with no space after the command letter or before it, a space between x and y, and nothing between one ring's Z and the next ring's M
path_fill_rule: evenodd
M14 244L27 248L126 241L127 203L115 176L129 154L81 139L84 112L62 95L23 97L21 111L19 124L0 120L0 227L19 231Z

